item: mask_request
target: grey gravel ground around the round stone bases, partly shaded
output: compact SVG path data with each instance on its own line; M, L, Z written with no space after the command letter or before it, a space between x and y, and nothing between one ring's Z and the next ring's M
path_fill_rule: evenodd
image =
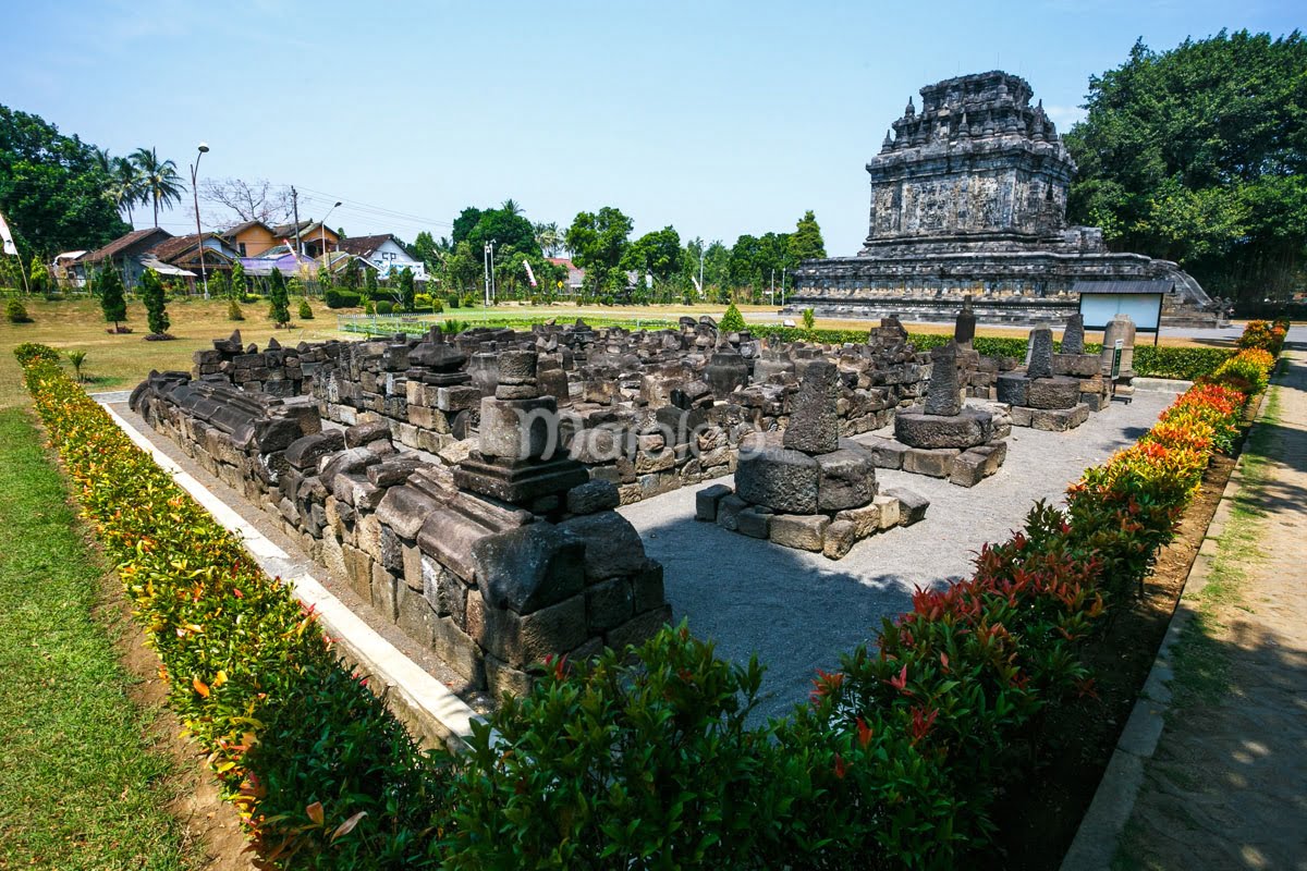
M882 618L904 611L914 586L970 573L983 543L1005 539L1036 500L1060 501L1082 470L1133 443L1171 400L1137 392L1070 432L1014 427L1002 469L971 490L877 470L882 488L914 490L931 508L915 526L859 542L839 562L697 522L702 487L620 511L663 563L674 619L689 618L724 658L746 662L755 653L767 666L759 713L780 716L806 699L816 669L838 666L840 653L874 637Z

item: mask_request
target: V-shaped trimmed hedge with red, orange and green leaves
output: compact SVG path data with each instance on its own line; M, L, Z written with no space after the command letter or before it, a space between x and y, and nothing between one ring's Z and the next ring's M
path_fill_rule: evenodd
M1265 375L1269 354L1255 353ZM546 662L451 759L418 751L286 588L56 364L27 355L29 390L171 704L263 849L312 868L966 863L1001 787L1038 760L1040 712L1093 692L1085 645L1170 541L1212 453L1233 445L1246 400L1195 385L1087 470L1065 509L1038 504L971 578L918 590L788 718L750 726L762 669L721 662L682 624L593 662Z

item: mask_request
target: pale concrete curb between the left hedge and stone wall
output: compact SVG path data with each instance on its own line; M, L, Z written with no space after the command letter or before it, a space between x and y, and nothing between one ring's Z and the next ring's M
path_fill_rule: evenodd
M93 397L98 398L98 397ZM401 720L416 727L416 736L426 743L440 742L450 750L465 748L472 736L473 721L482 718L444 684L404 656L337 599L290 555L246 521L208 487L178 466L144 434L102 402L114 423L154 462L173 475L186 492L208 511L226 530L238 535L244 548L272 577L289 584L295 598L314 607L323 632L336 646L384 687L383 699ZM374 689L376 687L374 686Z

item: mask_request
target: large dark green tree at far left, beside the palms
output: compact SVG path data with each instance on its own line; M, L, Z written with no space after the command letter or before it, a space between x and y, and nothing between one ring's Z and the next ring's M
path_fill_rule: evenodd
M37 115L0 106L0 213L20 251L98 248L131 230L97 154Z

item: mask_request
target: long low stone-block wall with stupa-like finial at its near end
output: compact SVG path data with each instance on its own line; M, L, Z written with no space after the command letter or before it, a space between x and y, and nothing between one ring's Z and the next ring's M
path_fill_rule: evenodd
M246 351L233 350L231 360ZM399 452L392 422L379 415L324 427L307 397L184 372L152 373L131 407L467 688L523 692L532 662L621 649L672 616L661 564L613 511L617 487L537 451L531 426L541 418L514 413L553 410L553 398L538 396L533 358L505 355L506 377L481 400L477 449L465 465ZM280 380L260 368L246 383ZM510 444L527 449L514 456Z

